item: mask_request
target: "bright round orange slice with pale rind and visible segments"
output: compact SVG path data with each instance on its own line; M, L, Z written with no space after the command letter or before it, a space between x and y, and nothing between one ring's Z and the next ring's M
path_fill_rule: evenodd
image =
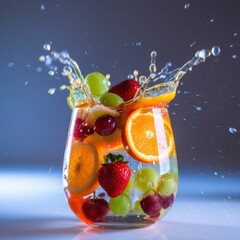
M143 163L164 160L174 149L169 118L160 108L132 112L123 128L122 140L130 156Z

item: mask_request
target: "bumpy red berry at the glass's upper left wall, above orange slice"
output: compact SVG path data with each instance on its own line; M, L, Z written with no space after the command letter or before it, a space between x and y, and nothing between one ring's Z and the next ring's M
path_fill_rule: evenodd
M73 130L73 137L75 140L83 141L91 134L93 134L93 129L90 128L81 118L77 118Z

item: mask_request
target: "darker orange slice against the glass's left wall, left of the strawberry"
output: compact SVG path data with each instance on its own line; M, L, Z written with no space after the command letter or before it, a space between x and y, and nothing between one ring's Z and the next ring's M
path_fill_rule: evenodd
M98 187L100 163L96 148L89 143L75 143L68 167L69 191L82 196L89 195Z

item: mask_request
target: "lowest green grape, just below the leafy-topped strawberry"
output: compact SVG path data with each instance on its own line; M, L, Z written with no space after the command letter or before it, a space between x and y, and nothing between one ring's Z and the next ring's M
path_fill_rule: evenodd
M121 194L116 198L110 198L109 201L111 211L118 216L126 215L131 210L131 206L129 194Z

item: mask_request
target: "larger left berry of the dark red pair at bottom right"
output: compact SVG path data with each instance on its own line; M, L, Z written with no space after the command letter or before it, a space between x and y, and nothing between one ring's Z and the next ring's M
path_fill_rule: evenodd
M142 210L150 217L157 217L162 209L162 203L159 194L147 195L140 201Z

